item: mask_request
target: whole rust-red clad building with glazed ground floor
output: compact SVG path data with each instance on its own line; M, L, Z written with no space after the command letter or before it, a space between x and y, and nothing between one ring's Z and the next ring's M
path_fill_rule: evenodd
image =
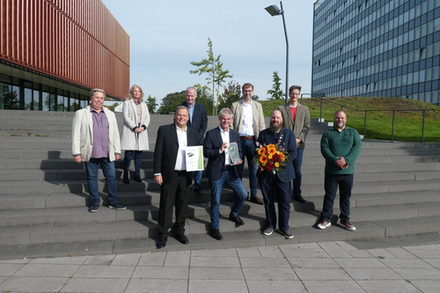
M130 40L101 0L0 0L0 109L74 111L123 98Z

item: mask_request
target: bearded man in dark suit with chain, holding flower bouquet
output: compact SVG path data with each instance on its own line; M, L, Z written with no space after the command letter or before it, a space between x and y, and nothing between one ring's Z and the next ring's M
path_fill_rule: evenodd
M266 228L263 234L269 236L273 233L277 224L275 213L275 199L278 201L279 230L278 232L286 239L293 238L289 232L289 215L291 202L290 181L295 177L292 161L296 156L296 141L293 131L282 128L283 116L279 110L272 112L270 127L261 131L258 136L260 145L275 144L278 148L283 148L287 153L285 167L279 171L271 172L258 170L261 192L263 193L264 209L266 212Z

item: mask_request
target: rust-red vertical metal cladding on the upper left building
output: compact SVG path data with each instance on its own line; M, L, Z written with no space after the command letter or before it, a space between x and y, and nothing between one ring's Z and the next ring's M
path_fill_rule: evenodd
M123 97L129 37L101 0L0 0L1 58Z

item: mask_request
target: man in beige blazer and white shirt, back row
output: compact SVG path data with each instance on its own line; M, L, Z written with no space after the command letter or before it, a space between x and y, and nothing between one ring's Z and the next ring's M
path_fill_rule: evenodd
M234 115L233 127L240 135L242 160L246 158L249 168L249 185L251 196L249 201L263 204L261 198L257 197L257 166L253 161L255 157L256 141L260 131L266 128L264 123L263 107L253 100L254 86L250 83L243 84L243 98L232 104L231 110ZM241 165L240 174L243 175L243 166Z

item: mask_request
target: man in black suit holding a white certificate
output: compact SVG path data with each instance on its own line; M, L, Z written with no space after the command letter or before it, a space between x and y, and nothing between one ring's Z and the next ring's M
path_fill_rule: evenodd
M176 222L172 232L179 242L189 242L184 231L191 172L186 171L185 149L187 146L203 145L203 138L195 130L187 127L188 119L188 109L178 106L174 123L160 126L157 131L153 163L154 181L160 184L160 231L157 248L166 245L174 206Z

